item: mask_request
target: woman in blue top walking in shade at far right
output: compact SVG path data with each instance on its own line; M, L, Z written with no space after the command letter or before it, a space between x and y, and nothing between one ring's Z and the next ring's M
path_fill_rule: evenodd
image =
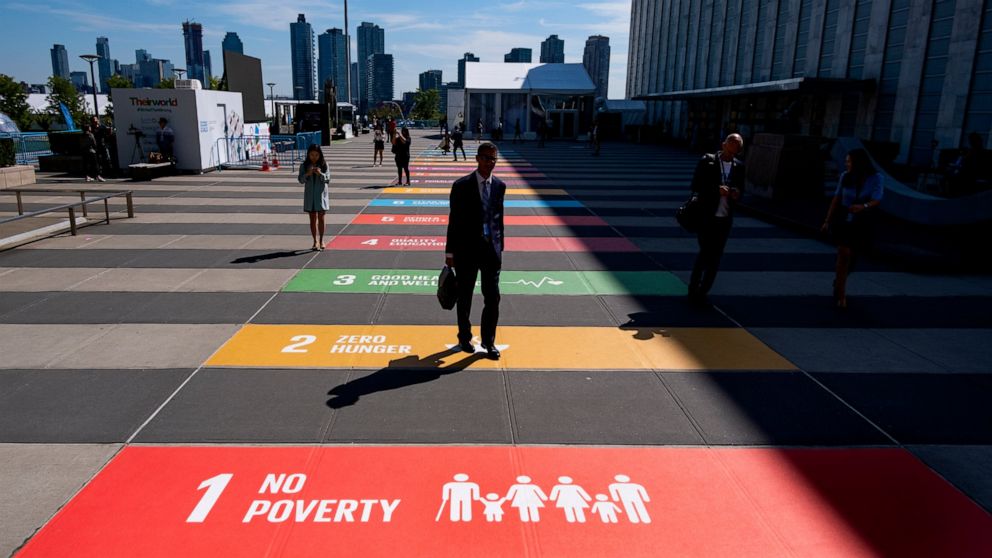
M882 175L875 169L868 152L852 149L844 159L837 191L820 228L830 232L837 243L834 275L834 305L847 308L847 276L855 258L871 245L873 217L882 203Z

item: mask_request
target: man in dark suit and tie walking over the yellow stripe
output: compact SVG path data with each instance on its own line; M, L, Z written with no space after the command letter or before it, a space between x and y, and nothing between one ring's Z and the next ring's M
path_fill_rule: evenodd
M482 348L489 358L499 359L496 323L499 321L499 272L503 267L503 198L506 184L493 176L496 145L479 145L478 168L451 186L448 237L444 261L455 269L458 280L458 346L474 353L472 345L472 293L482 275Z

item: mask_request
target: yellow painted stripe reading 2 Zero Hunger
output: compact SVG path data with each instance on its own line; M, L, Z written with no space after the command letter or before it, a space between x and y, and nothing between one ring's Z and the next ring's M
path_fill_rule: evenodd
M478 331L476 329L476 331ZM246 325L208 366L271 368L446 367L456 327ZM515 370L795 370L744 329L499 328L503 358L472 368Z

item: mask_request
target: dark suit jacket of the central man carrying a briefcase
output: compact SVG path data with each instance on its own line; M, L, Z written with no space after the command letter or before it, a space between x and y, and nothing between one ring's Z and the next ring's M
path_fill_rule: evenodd
M506 184L492 177L489 186L489 204L493 212L493 247L496 256L503 257L503 199L506 197ZM455 258L475 258L478 256L479 239L482 237L482 196L479 194L479 181L473 171L463 176L451 186L450 210L448 214L448 237L445 252Z

